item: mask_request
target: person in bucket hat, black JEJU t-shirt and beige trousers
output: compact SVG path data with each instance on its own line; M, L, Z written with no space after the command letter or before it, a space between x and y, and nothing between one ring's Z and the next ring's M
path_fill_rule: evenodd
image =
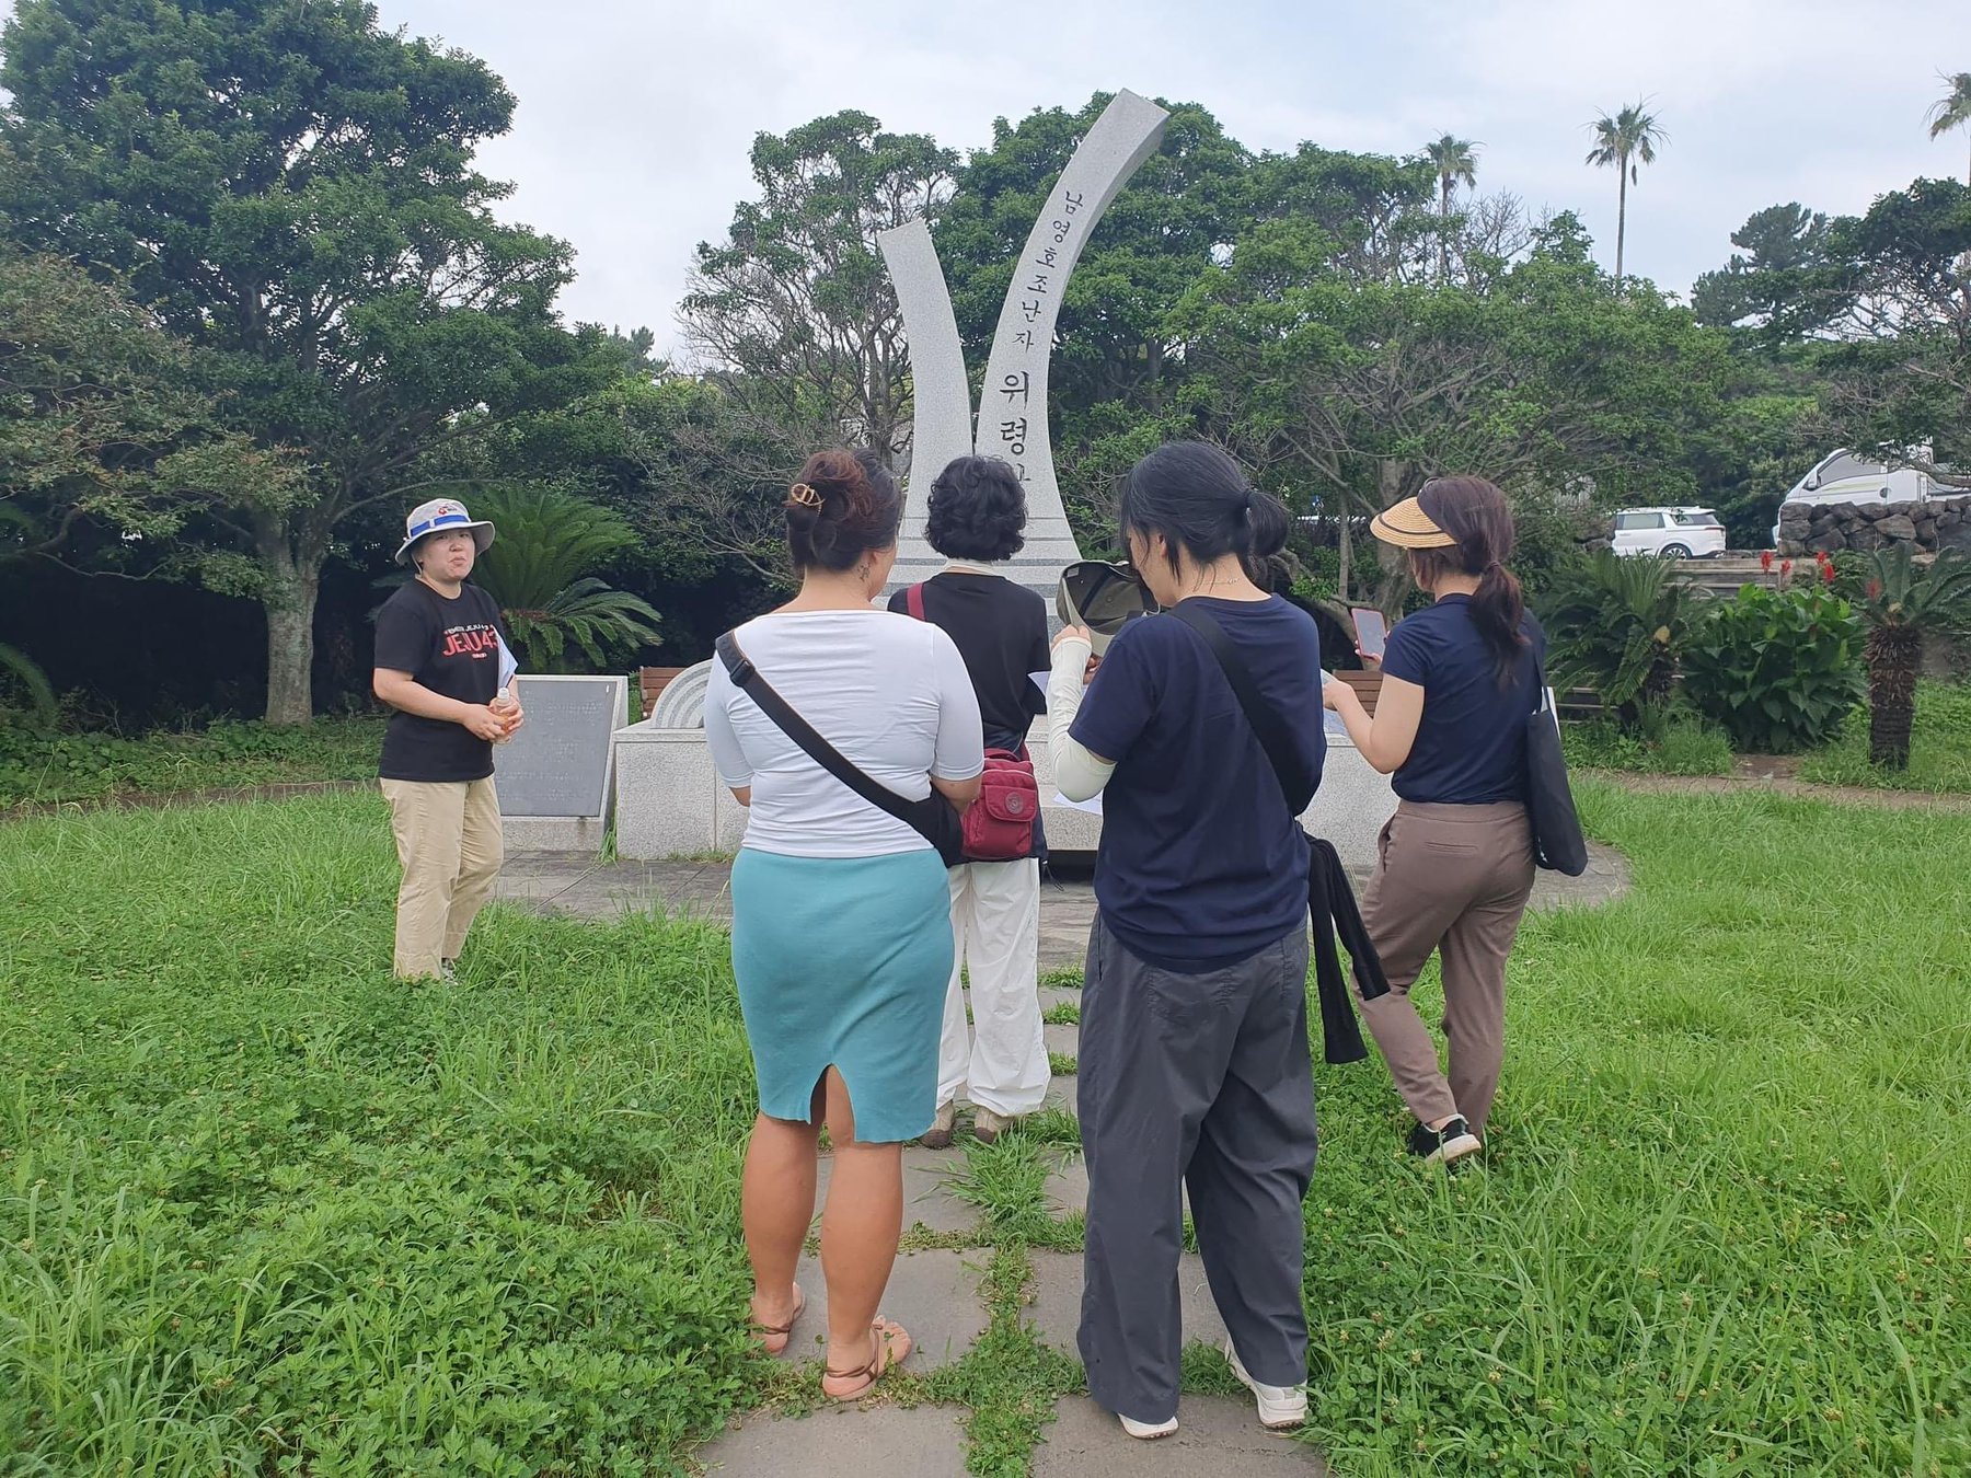
M404 883L396 895L402 979L451 979L473 916L501 865L493 745L522 723L501 688L499 605L465 583L493 524L432 499L404 520L398 564L416 568L376 613L373 692L392 709L382 794Z

